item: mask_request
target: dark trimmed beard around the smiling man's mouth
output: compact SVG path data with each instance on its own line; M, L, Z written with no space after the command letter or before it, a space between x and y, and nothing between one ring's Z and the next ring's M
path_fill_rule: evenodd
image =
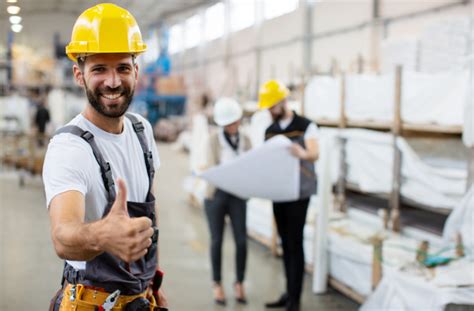
M128 107L130 106L130 103L132 102L133 99L133 93L134 89L130 89L129 87L126 86L119 86L117 88L110 88L110 87L105 87L103 89L95 89L95 91L92 91L87 87L86 82L84 81L85 89L86 89L86 95L87 99L89 100L89 103L91 106L101 115L108 117L108 118L119 118L127 112ZM110 93L120 93L124 99L123 103L117 104L116 106L118 107L113 107L108 108L106 105L102 103L102 94L110 94Z

